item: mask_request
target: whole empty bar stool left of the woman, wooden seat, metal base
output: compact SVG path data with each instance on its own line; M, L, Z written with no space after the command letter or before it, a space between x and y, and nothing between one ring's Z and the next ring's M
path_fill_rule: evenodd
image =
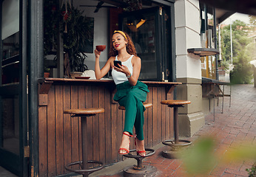
M104 167L103 162L87 160L87 117L95 116L96 114L104 113L104 108L78 108L64 110L64 114L71 114L71 117L81 117L81 139L82 139L82 161L67 164L66 170L88 177L90 173L101 170ZM89 168L89 164L100 164L98 167ZM81 169L71 168L73 165L79 164Z

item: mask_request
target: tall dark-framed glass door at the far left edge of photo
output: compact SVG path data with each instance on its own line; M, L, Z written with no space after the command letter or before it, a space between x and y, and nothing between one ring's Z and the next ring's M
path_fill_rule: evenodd
M27 176L27 79L23 1L0 0L0 165ZM25 46L25 45L24 45Z

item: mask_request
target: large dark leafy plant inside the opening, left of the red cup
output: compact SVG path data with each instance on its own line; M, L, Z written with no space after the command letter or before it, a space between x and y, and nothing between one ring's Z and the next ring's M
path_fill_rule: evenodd
M68 70L66 73L68 75L73 72L82 73L88 69L87 65L84 64L84 60L87 58L85 52L87 44L90 42L90 21L83 15L83 11L70 6L70 4L62 8L61 14L63 16L63 23L61 23L62 29L64 29L64 58L69 61L66 65L69 68L65 68Z

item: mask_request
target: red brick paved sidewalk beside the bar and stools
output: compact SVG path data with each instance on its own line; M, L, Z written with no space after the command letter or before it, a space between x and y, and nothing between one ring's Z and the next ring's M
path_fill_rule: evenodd
M190 138L192 142L202 136L216 137L216 149L218 154L224 154L232 148L243 145L243 141L252 142L256 148L256 88L253 85L232 86L232 103L229 108L229 97L224 97L224 110L221 114L221 102L215 107L215 122L213 113L206 116L206 125L198 133ZM156 176L189 176L185 173L181 159L165 159L161 156L161 151L166 150L164 145L158 145L158 150L154 156L144 159L144 164L157 167ZM209 174L203 177L248 177L246 168L251 168L254 160L244 162L233 162L229 164L215 165ZM134 159L126 159L103 170L92 173L90 176L112 176L121 177L124 167L136 164ZM104 175L103 175L104 174Z

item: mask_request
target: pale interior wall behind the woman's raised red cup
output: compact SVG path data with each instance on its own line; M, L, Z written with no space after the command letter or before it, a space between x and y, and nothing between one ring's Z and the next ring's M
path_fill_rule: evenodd
M84 15L87 17L94 18L94 37L93 37L93 51L95 46L97 45L107 45L104 52L101 52L100 57L100 65L104 66L108 59L108 49L110 48L110 40L109 40L109 32L108 32L108 12L107 8L102 7L98 10L98 13L94 13L96 7L79 7L79 5L97 5L98 1L92 0L75 0L73 1L73 5L78 7L79 10L84 11ZM85 63L89 69L94 70L95 68L95 55L93 53L86 54L88 58L86 58Z

